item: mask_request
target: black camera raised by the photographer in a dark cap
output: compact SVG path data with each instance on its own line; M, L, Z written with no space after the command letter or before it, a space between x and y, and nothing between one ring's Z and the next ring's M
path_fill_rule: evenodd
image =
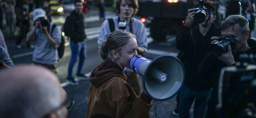
M198 0L198 3L200 4L199 8L195 9L194 19L197 24L203 23L205 18L207 17L207 11L208 9L204 7L205 0Z

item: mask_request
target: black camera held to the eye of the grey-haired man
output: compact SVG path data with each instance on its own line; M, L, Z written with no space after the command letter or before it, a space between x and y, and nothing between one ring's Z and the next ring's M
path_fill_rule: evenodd
M231 45L231 50L234 50L236 48L236 40L234 36L228 35L228 36L219 36L218 41L211 44L210 46L210 55L213 57L219 57L223 53L228 52L228 45Z

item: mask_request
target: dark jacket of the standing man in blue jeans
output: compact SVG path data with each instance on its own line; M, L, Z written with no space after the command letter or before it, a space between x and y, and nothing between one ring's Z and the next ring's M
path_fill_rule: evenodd
M82 13L79 16L75 11L72 11L70 16L67 17L66 22L70 40L74 41L76 44L78 42L84 41L86 38L84 32L84 14Z

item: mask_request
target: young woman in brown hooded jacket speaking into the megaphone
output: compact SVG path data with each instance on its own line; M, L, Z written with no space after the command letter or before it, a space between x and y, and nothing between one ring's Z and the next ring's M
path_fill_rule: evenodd
M116 30L102 42L99 53L106 60L89 77L92 85L87 101L87 118L147 116L152 98L144 91L137 96L124 74L124 67L130 68L130 60L138 55L136 39L130 32Z

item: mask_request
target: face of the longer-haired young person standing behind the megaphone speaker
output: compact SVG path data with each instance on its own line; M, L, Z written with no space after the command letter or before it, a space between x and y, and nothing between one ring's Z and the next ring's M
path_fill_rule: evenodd
M121 20L130 20L134 9L132 6L129 6L124 0L122 0L120 5L120 19Z

